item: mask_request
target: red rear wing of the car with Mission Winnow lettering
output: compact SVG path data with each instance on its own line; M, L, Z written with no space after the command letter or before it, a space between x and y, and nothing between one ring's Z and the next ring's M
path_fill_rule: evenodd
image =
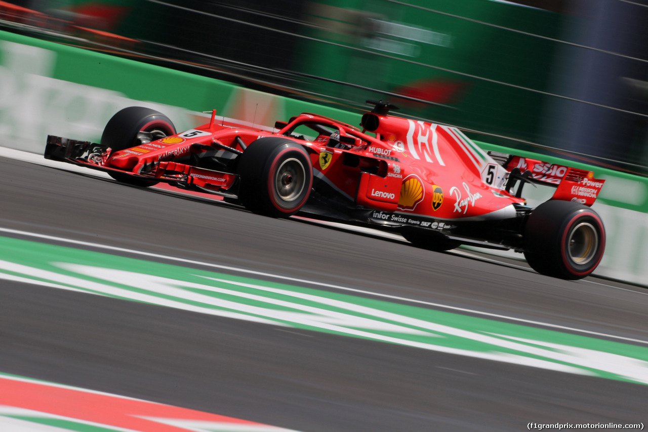
M518 186L516 196L519 196L524 182L542 184L555 187L552 200L580 202L592 206L599 196L605 180L594 178L594 171L577 169L558 165L557 163L542 162L537 159L524 158L499 152L488 152L489 155L500 163L509 172L509 179L505 185L507 191Z

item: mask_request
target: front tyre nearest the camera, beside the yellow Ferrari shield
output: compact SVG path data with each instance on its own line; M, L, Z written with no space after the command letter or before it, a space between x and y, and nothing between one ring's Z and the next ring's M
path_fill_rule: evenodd
M301 145L279 137L260 138L239 156L238 198L249 211L270 217L294 215L306 204L313 168Z

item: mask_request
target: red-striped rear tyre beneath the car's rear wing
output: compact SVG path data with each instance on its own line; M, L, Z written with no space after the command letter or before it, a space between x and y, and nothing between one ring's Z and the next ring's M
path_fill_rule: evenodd
M591 274L605 250L605 227L596 211L571 201L543 202L529 215L524 257L546 276L576 280Z

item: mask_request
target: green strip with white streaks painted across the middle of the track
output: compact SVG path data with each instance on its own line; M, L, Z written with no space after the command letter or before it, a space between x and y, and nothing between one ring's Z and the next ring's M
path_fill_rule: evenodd
M648 348L0 237L0 279L648 384Z

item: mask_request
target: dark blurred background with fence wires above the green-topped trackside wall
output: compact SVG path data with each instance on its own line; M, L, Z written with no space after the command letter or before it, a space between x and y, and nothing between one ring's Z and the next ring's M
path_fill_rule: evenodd
M643 176L647 23L648 0L0 1L2 30Z

